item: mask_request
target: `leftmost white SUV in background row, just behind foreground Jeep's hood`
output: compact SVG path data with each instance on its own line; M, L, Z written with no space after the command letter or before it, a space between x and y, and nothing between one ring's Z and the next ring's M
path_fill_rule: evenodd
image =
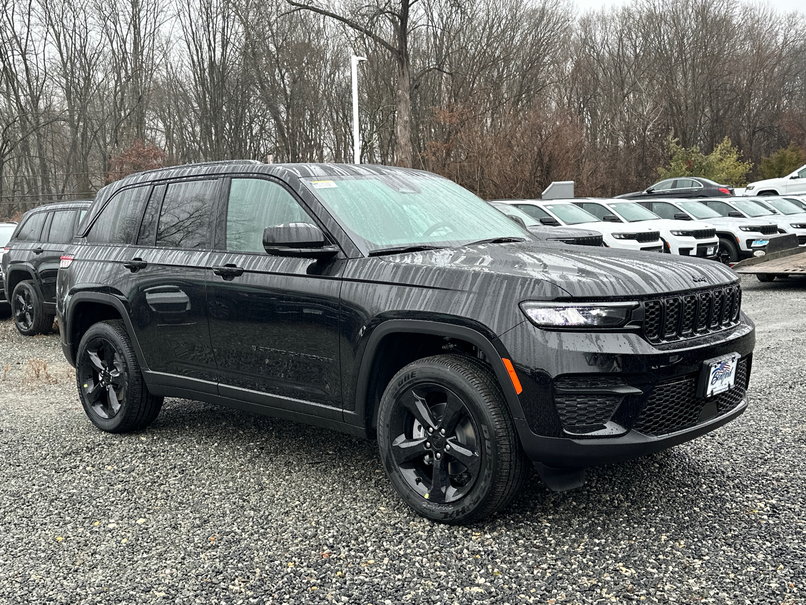
M592 229L602 234L602 240L609 248L625 250L646 250L663 252L658 229L645 225L625 225L607 223L565 199L509 199L500 200L520 208L533 219L555 219L567 227ZM544 222L545 224L545 222Z

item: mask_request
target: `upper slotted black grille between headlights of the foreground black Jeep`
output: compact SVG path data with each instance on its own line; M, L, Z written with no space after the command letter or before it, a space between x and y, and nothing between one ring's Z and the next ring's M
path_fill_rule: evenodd
M742 289L735 284L643 302L643 335L651 343L703 336L735 325Z

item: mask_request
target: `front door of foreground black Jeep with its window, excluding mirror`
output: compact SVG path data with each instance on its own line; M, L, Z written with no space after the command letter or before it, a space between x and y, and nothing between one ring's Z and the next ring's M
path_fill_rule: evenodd
M221 252L207 273L218 391L226 397L341 419L339 291L343 261L276 257L264 227L314 223L293 194L265 178L224 187Z

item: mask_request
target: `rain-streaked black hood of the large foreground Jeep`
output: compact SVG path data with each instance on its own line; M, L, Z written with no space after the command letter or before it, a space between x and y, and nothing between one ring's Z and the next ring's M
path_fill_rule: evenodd
M476 244L372 260L398 265L397 270L385 273L396 274L399 282L418 285L454 289L467 284L467 290L478 292L484 288L484 274L488 274L489 283L495 284L497 291L504 291L501 277L509 277L505 280L506 291L520 297L514 303L530 297L546 298L551 292L556 296L557 287L573 298L624 299L737 281L736 274L725 265L701 258L618 248L570 247L555 242ZM509 287L510 282L513 288Z

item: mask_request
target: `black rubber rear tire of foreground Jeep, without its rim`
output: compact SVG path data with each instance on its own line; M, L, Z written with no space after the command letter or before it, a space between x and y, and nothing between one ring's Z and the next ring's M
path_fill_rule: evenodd
M110 419L96 414L92 407L89 406L81 378L81 363L85 358L88 344L99 337L110 341L114 345L123 360L127 372L127 382L120 411ZM135 349L131 345L131 339L126 330L126 324L120 319L94 323L81 337L76 355L76 380L78 397L81 399L81 405L84 407L86 415L102 431L136 431L152 424L157 415L160 414L163 398L156 397L148 392L146 383L143 381L143 373L140 371L140 365L135 355Z

